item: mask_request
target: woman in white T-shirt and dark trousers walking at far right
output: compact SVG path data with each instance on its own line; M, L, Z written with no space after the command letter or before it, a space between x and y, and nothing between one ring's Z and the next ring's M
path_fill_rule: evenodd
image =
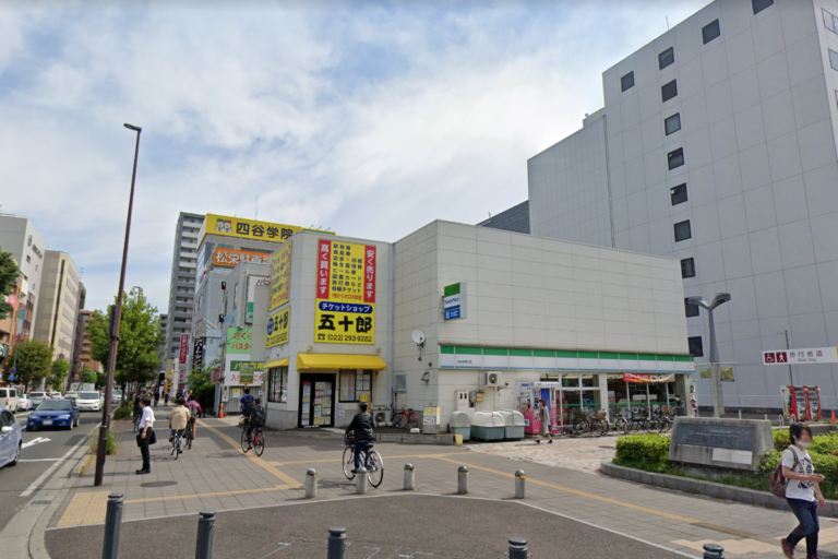
M806 559L817 559L817 537L821 523L817 508L825 507L821 492L824 476L815 474L806 448L812 443L812 429L807 425L792 424L789 427L791 445L782 451L782 477L786 481L786 501L800 523L788 537L780 540L786 557L794 559L794 546L806 540Z

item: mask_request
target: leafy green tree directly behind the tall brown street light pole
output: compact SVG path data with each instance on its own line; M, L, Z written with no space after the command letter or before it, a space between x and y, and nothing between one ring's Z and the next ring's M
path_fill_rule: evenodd
M110 354L108 317L101 311L96 311L87 323L87 332L93 342L91 357L99 362L108 362ZM128 383L142 385L155 378L159 364L157 347L163 340L157 308L148 302L141 288L131 289L122 302L115 372L115 381L122 388L123 394Z

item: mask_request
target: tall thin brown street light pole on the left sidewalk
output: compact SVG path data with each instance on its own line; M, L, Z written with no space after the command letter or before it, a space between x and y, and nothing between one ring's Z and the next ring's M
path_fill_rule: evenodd
M110 401L113 395L113 371L117 368L117 347L119 346L119 324L122 320L122 292L125 288L125 264L128 263L128 239L131 236L131 212L134 207L134 183L136 182L136 158L140 155L140 133L142 128L132 124L123 124L127 129L136 132L136 146L134 147L134 169L131 173L131 194L128 199L128 219L125 221L125 243L122 247L122 271L119 273L119 290L117 304L110 311L110 350L108 352L107 381L105 382L105 407L101 411L101 425L99 426L99 444L96 449L96 475L94 486L101 485L101 476L105 473L105 453L108 445L108 429L110 429ZM123 394L124 396L124 394Z

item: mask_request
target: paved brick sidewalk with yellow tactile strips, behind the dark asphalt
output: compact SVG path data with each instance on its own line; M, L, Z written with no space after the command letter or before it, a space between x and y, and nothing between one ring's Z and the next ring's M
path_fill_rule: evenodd
M123 429L119 433L121 452L108 460L105 479L109 485L101 492L125 495L127 521L299 502L303 497L299 486L312 466L318 469L319 500L357 498L354 484L340 471L340 441L268 433L265 452L258 459L243 455L239 449L240 429L207 419L199 428L193 449L178 461L168 455L161 437L153 452L153 473L136 476L133 472L140 467L140 454L130 425L124 424ZM549 445L555 449L542 444L532 450L515 443L468 448L379 443L386 475L371 497L400 491L407 462L416 466L419 492L456 493L456 471L465 464L470 469L469 496L487 499L512 498L514 472L524 468L527 504L690 556L699 556L702 545L714 542L721 543L732 558L782 557L779 538L794 525L789 513L612 479L592 474L590 468L540 463L551 462L546 453L555 454L553 462L558 463L560 453L592 452L590 444L607 445L600 444L606 440L578 439ZM524 464L522 454L530 456ZM75 491L58 509L50 526L103 522L104 514L97 512L101 510L100 498L84 495L99 491L91 486L92 474L79 478ZM822 527L826 558L830 557L828 551L838 552L838 522L823 519Z

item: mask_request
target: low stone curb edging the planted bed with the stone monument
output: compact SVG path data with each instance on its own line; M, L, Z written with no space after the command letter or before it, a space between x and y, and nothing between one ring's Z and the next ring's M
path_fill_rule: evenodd
M785 500L778 499L768 491L745 489L744 487L717 484L715 481L705 481L703 479L694 479L692 477L681 477L670 474L644 472L643 469L636 469L633 467L619 466L611 461L602 461L599 465L599 471L610 477L650 485L661 489L671 489L691 495L701 495L704 497L711 497L714 499L723 499L727 501L741 502L743 504L752 504L766 509L776 509L781 511L790 510L788 503ZM826 507L819 509L818 512L824 516L838 518L838 501L827 500Z

